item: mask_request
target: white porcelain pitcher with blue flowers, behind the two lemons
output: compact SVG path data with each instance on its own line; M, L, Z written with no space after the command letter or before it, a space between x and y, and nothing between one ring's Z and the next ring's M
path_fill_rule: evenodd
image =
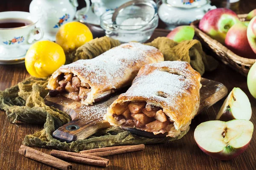
M84 0L87 12L90 0ZM38 26L44 31L44 39L55 41L55 34L64 23L73 21L77 0L32 0L29 12L38 19Z

